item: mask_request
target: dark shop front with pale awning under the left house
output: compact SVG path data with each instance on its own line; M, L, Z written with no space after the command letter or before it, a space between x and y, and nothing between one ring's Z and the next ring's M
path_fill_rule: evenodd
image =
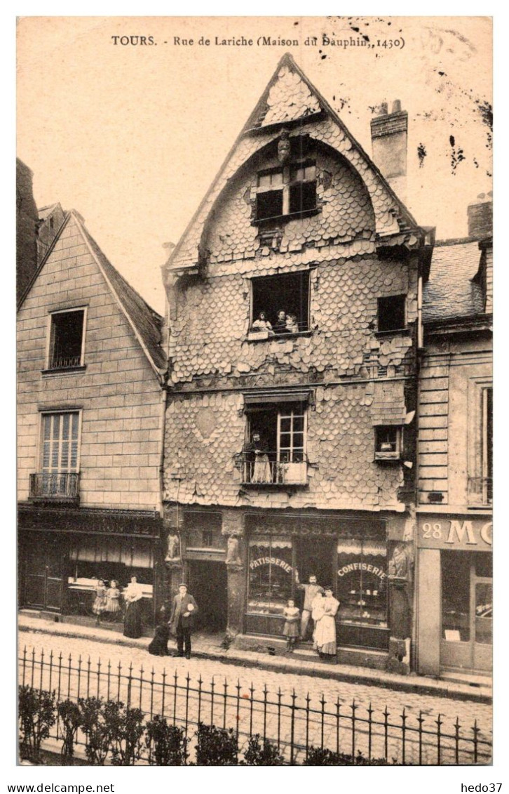
M19 512L19 549L20 607L96 619L93 607L102 582L118 591L120 608L104 611L101 622L121 622L122 592L136 576L143 590L143 623L153 624L157 516L27 509Z

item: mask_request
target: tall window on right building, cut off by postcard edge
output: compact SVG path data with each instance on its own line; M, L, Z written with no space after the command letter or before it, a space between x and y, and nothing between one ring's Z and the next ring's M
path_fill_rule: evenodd
M469 385L469 483L471 507L493 501L493 387L473 380Z

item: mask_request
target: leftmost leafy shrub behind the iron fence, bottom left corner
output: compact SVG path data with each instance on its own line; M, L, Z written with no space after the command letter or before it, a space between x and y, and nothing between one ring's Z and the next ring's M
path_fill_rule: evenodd
M48 738L56 722L55 692L19 688L19 720L21 754L31 761L40 761L40 743Z

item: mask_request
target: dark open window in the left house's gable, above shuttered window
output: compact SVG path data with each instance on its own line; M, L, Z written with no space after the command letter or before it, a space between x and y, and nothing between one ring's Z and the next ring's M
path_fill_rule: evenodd
M85 326L85 308L52 312L48 338L48 370L83 366Z

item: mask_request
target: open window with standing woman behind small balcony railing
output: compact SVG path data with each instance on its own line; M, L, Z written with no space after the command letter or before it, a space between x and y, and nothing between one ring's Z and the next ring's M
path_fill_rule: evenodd
M243 483L304 485L308 481L305 403L249 407L242 453Z

